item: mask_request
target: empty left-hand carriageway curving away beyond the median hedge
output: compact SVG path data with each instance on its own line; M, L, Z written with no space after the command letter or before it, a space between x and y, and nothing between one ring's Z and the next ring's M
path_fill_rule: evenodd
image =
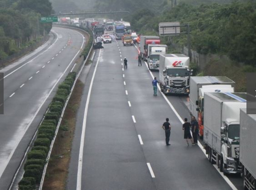
M0 189L8 189L55 94L70 72L85 38L54 27L42 47L3 68L4 114L0 115Z

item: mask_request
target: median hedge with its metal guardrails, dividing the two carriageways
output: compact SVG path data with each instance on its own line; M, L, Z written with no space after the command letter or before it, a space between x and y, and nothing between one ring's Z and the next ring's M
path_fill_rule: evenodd
M68 26L68 27L71 27L71 26ZM30 142L30 146L25 152L25 156L22 163L20 164L20 167L21 165L23 165L25 161L25 157L29 158L29 160L26 160L25 162L25 173L19 182L20 190L34 190L34 189L41 190L42 189L44 179L45 179L46 169L48 166L48 161L50 159L55 138L60 128L60 123L62 121L65 108L73 92L75 83L79 78L80 73L82 72L85 66L85 63L89 58L89 56L87 55L91 53L91 50L93 48L93 40L92 40L93 36L90 33L90 31L86 31L86 29L83 29L80 27L79 28L72 27L72 28L77 28L87 32L90 35L90 40L88 43L89 44L91 43L91 46L88 46L88 44L87 46L85 46L85 49L82 54L86 54L86 58L83 61L83 64L81 65L77 75L75 76L74 72L69 73L68 76L65 78L64 82L59 85L58 91L53 101L50 103L49 109L45 113L45 117L43 118L42 122L40 123L40 126L35 132L35 136L37 136L36 139L34 136L32 141ZM33 143L34 143L34 146L32 147ZM31 147L32 149L31 151L29 151ZM47 154L47 157L46 157L46 154ZM18 170L20 170L20 167ZM16 172L16 174L17 173L18 171ZM15 179L12 181L10 188L12 187L14 181ZM36 184L39 184L39 187Z

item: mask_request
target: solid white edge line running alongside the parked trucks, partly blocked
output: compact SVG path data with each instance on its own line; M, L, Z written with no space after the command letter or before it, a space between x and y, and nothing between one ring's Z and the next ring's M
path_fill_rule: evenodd
M139 50L136 47L137 50ZM144 62L146 67L147 67L147 63ZM149 68L147 67L147 69L149 70ZM154 76L152 74L152 72L149 70L149 73L151 75L151 78L154 79ZM164 95L164 93L161 92L161 88L160 86L157 84L157 88L159 89L160 93L162 94L162 96L164 97L164 99L166 100L166 102L169 104L169 106L171 107L172 111L175 113L175 115L178 117L178 119L180 120L180 122L183 124L184 121L182 120L181 116L178 114L178 112L176 111L176 109L172 106L171 102L167 99L167 97ZM201 151L203 151L203 153L206 155L206 150L204 149L204 147L201 145L201 143L198 141L198 146L201 149ZM215 167L215 165L213 165ZM223 179L226 181L226 183L231 187L232 190L237 190L236 186L231 182L231 180L228 179L228 177L226 177L225 175L223 175L223 173L218 170L218 167L215 167L215 169L218 171L218 173L223 177Z

